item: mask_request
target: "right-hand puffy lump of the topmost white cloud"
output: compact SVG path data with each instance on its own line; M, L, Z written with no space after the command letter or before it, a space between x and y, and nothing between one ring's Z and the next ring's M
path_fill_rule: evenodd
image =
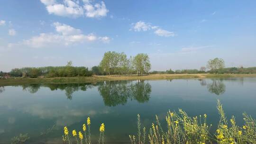
M89 18L97 18L97 17L105 17L109 10L106 8L106 5L103 1L101 4L96 3L94 6L90 3L84 5L84 9L86 10L85 15Z

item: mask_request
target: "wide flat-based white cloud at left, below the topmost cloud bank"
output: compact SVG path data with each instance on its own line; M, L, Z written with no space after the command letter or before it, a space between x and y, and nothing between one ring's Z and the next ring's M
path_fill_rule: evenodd
M66 24L59 22L53 23L57 34L54 33L41 33L39 36L33 36L28 40L24 40L25 45L31 47L46 47L58 45L72 45L75 43L91 42L99 39L102 42L110 42L107 36L97 37L94 34L84 35L81 34L80 29L76 29Z

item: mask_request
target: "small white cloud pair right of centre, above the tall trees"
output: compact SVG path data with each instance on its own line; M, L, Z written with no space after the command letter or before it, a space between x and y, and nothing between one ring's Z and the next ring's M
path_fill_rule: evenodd
M164 30L158 26L152 26L150 23L146 23L144 21L138 21L137 23L132 23L132 28L129 30L134 30L134 31L147 31L150 29L154 29L155 30L155 35L157 36L165 36L165 37L169 37L169 36L175 36L174 32L171 31L167 31Z

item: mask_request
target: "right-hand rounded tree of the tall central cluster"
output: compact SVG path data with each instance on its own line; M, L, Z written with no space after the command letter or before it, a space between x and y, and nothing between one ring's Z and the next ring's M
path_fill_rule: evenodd
M151 63L147 54L137 54L132 59L132 65L138 75L142 75L142 73L148 72L151 69Z

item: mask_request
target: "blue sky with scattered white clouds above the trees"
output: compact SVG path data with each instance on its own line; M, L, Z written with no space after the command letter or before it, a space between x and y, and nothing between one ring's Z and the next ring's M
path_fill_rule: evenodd
M0 1L1 71L90 68L107 51L146 53L152 70L256 66L255 0Z

